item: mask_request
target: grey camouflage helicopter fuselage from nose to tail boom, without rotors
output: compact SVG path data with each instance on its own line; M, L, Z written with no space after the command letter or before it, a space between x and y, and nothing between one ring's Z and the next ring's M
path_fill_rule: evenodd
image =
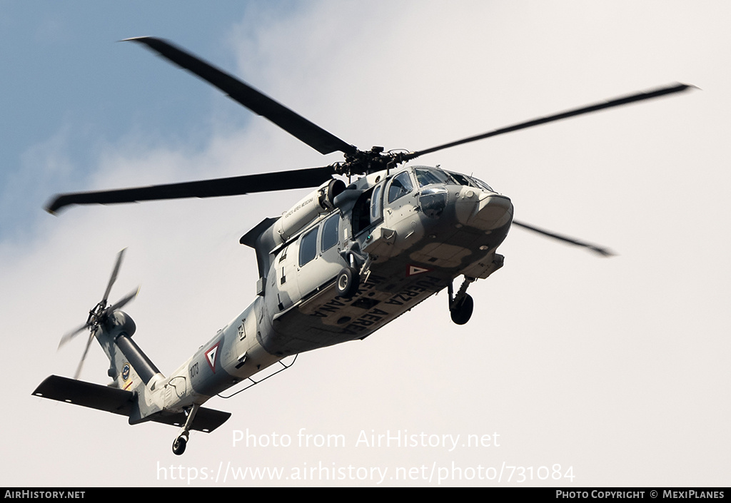
M281 219L317 199L316 191ZM268 219L249 236L262 275L257 298L178 369L189 377L186 401L220 393L289 355L364 339L458 276L487 278L502 265L496 249L510 229L512 204L474 178L414 166L366 175L334 197L329 211L311 214L307 222L296 216L300 228L291 235L292 225ZM349 265L359 269L360 283L343 298L336 276Z

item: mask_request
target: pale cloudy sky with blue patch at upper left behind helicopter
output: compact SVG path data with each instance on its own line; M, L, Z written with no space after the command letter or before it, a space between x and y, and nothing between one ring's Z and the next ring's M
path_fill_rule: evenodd
M0 1L0 485L727 486L730 16L710 0ZM306 192L43 206L341 157L119 42L143 35L361 149L699 89L424 156L616 256L515 228L504 268L469 289L467 325L442 292L365 341L304 353L212 398L232 417L178 457L176 428L31 392L73 375L84 338L58 340L125 247L111 300L141 286L135 341L173 371L254 299L240 236ZM106 369L95 345L80 378L106 384Z

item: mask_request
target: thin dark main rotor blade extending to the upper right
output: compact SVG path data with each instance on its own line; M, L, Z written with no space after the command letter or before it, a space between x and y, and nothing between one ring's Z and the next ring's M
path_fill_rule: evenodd
M463 145L464 143L470 143L470 142L477 141L477 140L484 140L485 138L489 138L489 137L497 136L497 135L503 135L504 133L518 131L519 129L526 129L526 128L533 127L533 126L539 126L540 124L546 124L548 122L560 121L561 119L564 119L564 118L580 116L584 113L597 112L599 110L605 110L605 108L619 107L621 105L629 105L629 103L640 102L645 99L653 99L653 98L665 96L666 94L678 93L681 91L686 91L687 89L693 88L693 87L694 86L689 86L688 84L678 83L673 86L657 88L654 91L630 94L629 96L626 96L626 97L612 99L607 102L600 102L600 103L596 103L594 105L588 105L586 107L575 108L573 110L567 110L565 112L556 113L552 116L534 118L531 121L521 122L519 124L514 124L512 126L503 127L500 129L494 129L493 131L483 133L482 135L471 136L468 138L463 138L462 140L454 141L452 143L444 143L444 145L438 145L436 147L426 148L425 150L412 152L411 154L406 154L406 158L414 159L418 156L423 156L424 154L431 154L432 152L436 152L436 151L442 150L444 148L455 147L456 145Z

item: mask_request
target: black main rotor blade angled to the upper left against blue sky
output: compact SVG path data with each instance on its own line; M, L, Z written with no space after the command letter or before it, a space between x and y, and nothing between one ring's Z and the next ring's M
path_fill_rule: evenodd
M254 113L264 116L290 135L298 138L317 150L320 154L341 151L344 154L354 154L355 146L325 131L317 124L313 124L293 110L281 105L252 88L238 78L213 67L201 58L194 56L164 39L156 37L135 37L126 41L144 44L155 50L160 56L167 58L179 67L194 73L198 77L213 84L224 91L231 99L239 102Z

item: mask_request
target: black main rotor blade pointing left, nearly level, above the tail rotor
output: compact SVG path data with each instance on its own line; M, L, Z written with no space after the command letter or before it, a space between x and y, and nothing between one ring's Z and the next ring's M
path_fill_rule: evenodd
M53 197L46 206L46 211L55 214L59 209L68 205L135 203L186 197L220 197L254 192L308 189L322 185L335 173L336 170L333 166L309 167L302 170L187 181L179 184L73 192Z

